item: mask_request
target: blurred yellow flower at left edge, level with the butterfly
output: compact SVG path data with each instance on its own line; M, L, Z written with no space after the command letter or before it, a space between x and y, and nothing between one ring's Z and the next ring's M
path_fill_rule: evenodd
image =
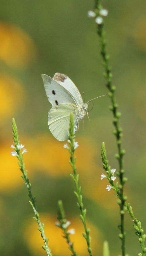
M24 101L24 90L21 82L14 77L1 74L0 76L0 123L6 117L12 116L14 111L22 106Z

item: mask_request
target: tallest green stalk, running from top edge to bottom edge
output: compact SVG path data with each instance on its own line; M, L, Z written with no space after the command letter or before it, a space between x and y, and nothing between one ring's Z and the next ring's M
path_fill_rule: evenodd
M102 9L102 6L100 4L100 1L95 0L95 12L97 16L100 16L100 10ZM119 162L119 172L117 175L120 179L119 184L119 193L120 193L120 220L121 223L119 225L120 227L120 239L122 241L121 249L122 249L122 256L125 256L125 230L124 230L124 205L126 197L124 197L124 170L123 170L123 156L125 154L125 151L122 150L121 146L121 138L122 138L122 129L119 126L119 118L121 116L121 113L117 111L118 104L116 104L116 97L115 97L115 90L116 87L112 85L112 72L111 68L109 66L109 56L107 55L107 48L106 48L106 41L105 41L105 32L104 32L104 23L97 24L97 34L99 36L100 41L100 48L101 48L101 55L102 55L102 64L104 67L104 77L106 79L106 86L109 90L109 97L111 98L111 106L110 110L113 113L113 125L115 127L114 135L116 136L116 143L118 148L118 154L116 154L116 158Z

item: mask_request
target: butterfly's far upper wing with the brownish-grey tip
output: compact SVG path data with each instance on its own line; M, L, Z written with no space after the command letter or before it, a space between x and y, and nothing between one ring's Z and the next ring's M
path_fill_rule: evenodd
M53 79L69 92L77 106L83 105L82 96L69 77L61 73L55 73Z

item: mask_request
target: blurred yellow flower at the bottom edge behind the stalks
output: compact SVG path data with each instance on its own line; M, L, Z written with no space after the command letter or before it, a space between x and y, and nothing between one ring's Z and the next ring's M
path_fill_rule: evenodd
M45 223L45 234L49 237L49 247L53 255L65 256L69 255L69 250L67 249L68 245L62 237L62 231L60 228L55 226L56 218L53 215L41 214L41 221ZM31 220L23 223L24 240L27 243L30 251L34 254L43 254L43 239L39 234L37 223ZM87 245L85 238L82 233L84 232L83 224L81 223L80 218L73 218L71 220L71 228L75 228L75 234L70 235L71 241L74 242L75 250L80 255L87 255ZM102 235L100 231L91 223L87 223L87 227L91 229L91 248L93 254L98 251L100 255L102 253ZM33 234L33 235L32 235ZM45 255L44 251L44 255Z

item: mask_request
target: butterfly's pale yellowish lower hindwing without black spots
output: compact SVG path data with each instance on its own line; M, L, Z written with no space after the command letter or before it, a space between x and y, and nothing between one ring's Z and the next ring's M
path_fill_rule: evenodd
M74 124L78 125L76 118L77 107L74 104L59 104L48 112L48 126L51 133L59 141L68 139L69 122L71 112L74 116Z

